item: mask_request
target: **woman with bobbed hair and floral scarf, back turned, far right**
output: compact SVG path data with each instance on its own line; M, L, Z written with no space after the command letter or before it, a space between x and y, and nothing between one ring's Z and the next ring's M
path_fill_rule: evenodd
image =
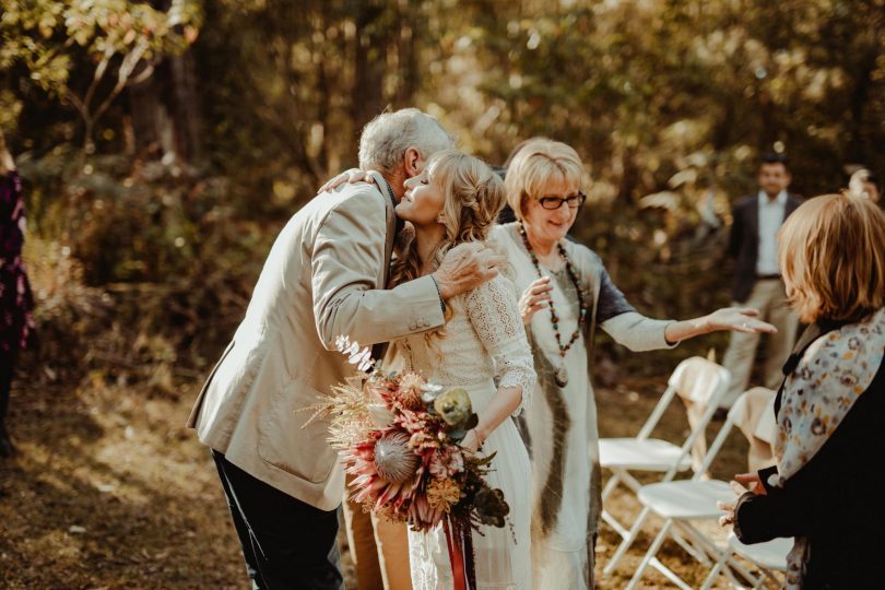
M736 476L751 492L721 522L744 543L795 538L788 588L882 588L885 214L862 197L816 197L778 240L809 328L775 401L777 467Z

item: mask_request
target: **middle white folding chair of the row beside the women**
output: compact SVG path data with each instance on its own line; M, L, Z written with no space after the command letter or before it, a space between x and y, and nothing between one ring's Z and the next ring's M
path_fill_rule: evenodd
M735 424L735 420L746 413L745 404L746 394L741 396L741 398L734 402L734 405L729 411L725 423L710 445L710 449L704 458L704 463L697 473L695 473L694 477L691 480L654 483L645 485L639 489L637 496L646 508L644 515L647 515L649 511L653 512L664 519L664 524L651 542L642 562L636 569L633 579L627 586L628 590L638 586L649 565L654 565L653 562L657 560L656 554L668 536L673 536L676 541L680 541L681 538L687 538L695 548L695 551L689 551L688 553L703 564L712 567L705 581L705 589L710 587L720 570L724 570L725 575L735 583L736 580L734 580L732 569L747 580L756 580L755 576L733 558L731 551L722 551L717 546L713 540L708 538L692 523L692 521L698 520L719 519L719 517L722 516L722 511L717 508L717 503L733 502L735 499L734 492L729 487L728 483L716 480L701 481L701 477L722 448L722 445ZM680 544L685 546L684 542ZM691 586L680 579L672 570L660 565L660 562L658 562L658 565L654 565L654 567L659 570L663 568L665 570L663 574L668 579L680 588L691 588ZM676 579L674 580L674 578Z

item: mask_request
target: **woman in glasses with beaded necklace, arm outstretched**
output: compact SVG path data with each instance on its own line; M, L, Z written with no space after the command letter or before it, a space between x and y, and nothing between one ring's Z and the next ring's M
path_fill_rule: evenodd
M597 408L589 370L600 326L633 351L675 346L715 330L774 331L754 309L723 308L692 320L649 319L612 283L599 256L566 238L585 204L583 167L570 146L524 142L507 169L517 221L496 228L522 293L538 386L521 429L532 460L535 588L593 587L602 509ZM589 453L588 453L589 449Z

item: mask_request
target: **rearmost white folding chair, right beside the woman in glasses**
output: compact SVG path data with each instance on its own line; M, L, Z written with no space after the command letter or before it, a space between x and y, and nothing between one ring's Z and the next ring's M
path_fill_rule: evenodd
M641 524L648 516L648 508L644 508L630 529L627 530L611 512L604 509L605 499L611 496L618 484L624 484L634 493L638 493L642 484L632 472L660 472L663 473L661 481L669 482L681 471L693 467L699 468L703 456L706 455L704 452L706 448L704 433L719 405L719 399L725 394L728 387L729 373L724 367L699 356L687 358L678 364L668 379L666 391L661 396L635 438L603 438L599 441L600 465L612 472L611 479L602 491L602 519L622 538L614 555L603 568L604 576L610 575L617 567L617 563L638 536ZM650 438L652 430L676 394L685 402L691 425L689 434L682 447L666 440ZM687 551L693 551L693 547L684 546ZM660 566L657 558L652 559L651 564L669 577L669 570ZM676 580L673 581L675 583Z

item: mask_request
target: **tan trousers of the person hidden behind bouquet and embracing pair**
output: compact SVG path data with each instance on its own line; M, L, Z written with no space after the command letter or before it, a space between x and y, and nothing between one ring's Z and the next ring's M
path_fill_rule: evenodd
M351 479L347 475L349 483ZM358 590L412 590L405 524L364 512L349 498L343 511Z

